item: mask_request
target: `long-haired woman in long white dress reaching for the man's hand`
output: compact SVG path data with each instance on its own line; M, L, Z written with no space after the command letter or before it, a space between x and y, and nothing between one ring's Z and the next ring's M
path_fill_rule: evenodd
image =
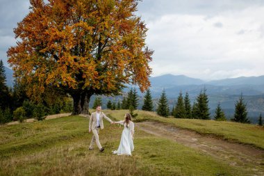
M131 152L134 150L133 138L134 138L134 123L131 121L130 113L124 115L124 120L114 122L114 124L124 125L121 141L117 150L113 151L113 154L126 154L131 156Z

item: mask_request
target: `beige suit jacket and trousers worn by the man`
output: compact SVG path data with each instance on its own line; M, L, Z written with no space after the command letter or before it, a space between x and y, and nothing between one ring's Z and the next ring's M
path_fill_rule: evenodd
M101 112L99 115L99 124L100 124L101 129L104 129L103 118L105 118L109 122L113 122L112 120L110 120L110 118L106 117L106 115L103 112ZM99 127L96 127L96 126L97 126L97 112L95 111L91 114L90 122L89 122L89 131L92 131L92 133L94 134L92 136L92 141L89 146L90 149L93 148L94 141L97 143L97 147L101 149L101 144L99 141Z

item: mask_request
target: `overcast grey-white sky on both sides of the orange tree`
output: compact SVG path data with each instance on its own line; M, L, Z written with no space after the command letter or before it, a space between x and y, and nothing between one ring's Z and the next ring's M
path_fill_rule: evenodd
M15 45L13 28L29 0L0 0L0 58ZM264 1L143 0L147 45L154 49L153 75L199 79L264 75Z

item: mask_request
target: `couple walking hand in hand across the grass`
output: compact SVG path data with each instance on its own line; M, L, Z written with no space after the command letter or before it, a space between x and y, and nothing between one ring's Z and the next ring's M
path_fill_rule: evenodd
M97 106L97 111L92 113L90 117L89 133L92 131L93 136L89 146L89 150L93 149L94 142L96 142L100 152L104 151L104 147L101 146L101 143L99 141L99 129L104 129L103 118L108 120L111 124L124 125L124 130L122 131L119 147L117 150L113 151L113 154L131 155L131 152L133 152L134 150L134 123L131 121L131 115L129 113L126 113L124 115L124 120L113 122L103 112L101 112L101 106Z

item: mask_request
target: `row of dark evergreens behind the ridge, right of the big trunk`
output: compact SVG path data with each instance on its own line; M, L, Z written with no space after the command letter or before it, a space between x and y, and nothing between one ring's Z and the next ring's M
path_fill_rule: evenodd
M136 92L135 88L131 88L129 93L123 97L122 100L118 100L118 102L111 102L108 100L106 106L107 109L115 110L115 109L130 109L135 110L138 109L138 93ZM151 96L150 90L147 90L143 100L142 110L144 111L156 111L158 115L163 117L174 117L174 118L194 118L194 119L201 119L201 120L218 120L218 121L226 121L226 115L222 110L220 102L217 104L215 109L215 113L213 117L211 117L210 109L208 106L208 95L206 94L206 88L201 90L199 95L197 95L195 102L191 104L188 92L179 93L177 100L170 110L167 96L165 90L161 93L160 98L158 99L158 103L156 104L156 109L154 109L154 100ZM94 101L94 107L97 104L101 104L101 97L97 97ZM247 117L247 104L240 95L240 98L235 104L235 113L233 114L233 118L231 118L233 122L242 122L242 123L250 123ZM258 119L258 125L263 125L263 120L260 114Z

